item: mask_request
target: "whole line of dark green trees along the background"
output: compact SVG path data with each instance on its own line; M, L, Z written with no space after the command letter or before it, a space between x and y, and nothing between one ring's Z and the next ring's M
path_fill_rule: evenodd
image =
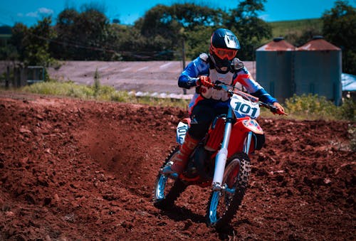
M110 23L103 9L85 4L64 9L55 23L44 17L35 26L16 23L11 39L0 48L1 60L19 60L25 65L48 66L55 60L181 60L209 50L209 38L216 28L229 28L241 43L239 58L254 60L255 50L271 41L271 23L258 18L266 0L237 1L224 11L201 4L157 5L132 26ZM356 73L355 8L337 0L325 11L322 28L306 27L302 33L288 33L287 41L298 46L313 35L342 48L342 69Z

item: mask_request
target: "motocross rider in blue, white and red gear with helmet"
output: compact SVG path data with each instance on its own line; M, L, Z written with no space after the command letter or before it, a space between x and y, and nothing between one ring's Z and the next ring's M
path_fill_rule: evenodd
M234 85L240 90L245 87L247 92L262 102L276 106L278 114L284 112L277 100L253 80L244 63L236 58L239 49L240 43L235 34L228 29L218 28L211 35L209 55L201 53L179 76L179 87L196 88L188 107L191 123L182 146L172 156L172 166L165 166L162 173L172 176L182 173L189 156L208 132L211 122L219 114L227 113L230 96L224 90L211 87L211 83L216 80Z

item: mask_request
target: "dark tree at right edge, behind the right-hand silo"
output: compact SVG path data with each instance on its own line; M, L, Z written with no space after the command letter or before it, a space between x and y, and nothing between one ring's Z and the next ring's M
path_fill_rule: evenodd
M342 71L356 75L356 9L348 1L335 1L323 14L323 36L342 49Z

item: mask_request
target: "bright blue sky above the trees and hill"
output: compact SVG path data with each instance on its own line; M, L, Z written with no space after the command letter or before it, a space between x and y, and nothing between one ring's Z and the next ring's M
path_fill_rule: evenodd
M53 20L66 7L80 10L83 4L96 3L105 9L105 15L112 21L117 18L120 23L132 24L145 12L157 4L172 5L174 3L195 2L212 8L232 9L239 3L238 0L1 0L0 25L13 26L16 22L27 26L36 24L43 16L51 15ZM305 18L320 18L325 10L333 8L335 0L268 0L265 11L260 18L265 21L284 21ZM349 0L349 4L356 7L356 0Z

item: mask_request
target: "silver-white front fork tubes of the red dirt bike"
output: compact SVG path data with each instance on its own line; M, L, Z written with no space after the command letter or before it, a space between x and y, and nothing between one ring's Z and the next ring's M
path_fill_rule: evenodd
M229 112L227 113L227 117L226 117L224 139L221 144L221 149L219 150L218 154L216 154L214 178L212 182L212 191L221 191L226 188L225 186L222 186L221 183L224 178L224 171L225 171L226 159L228 154L227 148L229 146L229 141L230 141L233 115L234 113L232 112L232 109L229 108ZM252 132L248 132L244 144L245 154L248 154L251 145L251 139L252 139Z

